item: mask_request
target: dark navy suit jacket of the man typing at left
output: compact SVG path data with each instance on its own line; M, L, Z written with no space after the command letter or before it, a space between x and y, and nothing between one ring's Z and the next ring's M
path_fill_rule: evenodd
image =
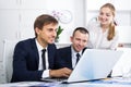
M56 46L48 46L49 69L53 67ZM20 41L14 49L13 75L11 82L40 80L43 71L38 71L39 55L35 38Z

